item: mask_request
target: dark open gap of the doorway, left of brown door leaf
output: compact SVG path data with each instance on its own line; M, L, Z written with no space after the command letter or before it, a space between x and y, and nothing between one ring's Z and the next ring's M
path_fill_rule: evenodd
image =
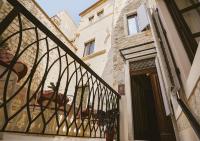
M146 75L131 78L135 140L159 141L151 81Z

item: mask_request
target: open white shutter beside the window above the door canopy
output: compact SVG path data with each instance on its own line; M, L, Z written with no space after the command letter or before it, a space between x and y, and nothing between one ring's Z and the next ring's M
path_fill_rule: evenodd
M147 16L146 6L142 4L137 9L138 26L139 31L143 31L149 25L149 19Z

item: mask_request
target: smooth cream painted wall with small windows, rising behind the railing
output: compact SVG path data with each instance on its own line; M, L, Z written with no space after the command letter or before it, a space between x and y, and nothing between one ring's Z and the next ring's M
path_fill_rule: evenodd
M97 12L104 9L104 14L101 17L97 16ZM90 22L88 18L94 15L94 21ZM111 57L111 32L113 18L113 0L108 0L102 5L96 7L83 17L81 17L79 25L79 37L76 39L78 47L77 55L84 60L98 75L105 78L105 81L112 84L112 74L106 75L107 69L111 70L110 64L107 63ZM95 39L95 48L93 57L88 56L84 59L83 53L85 43ZM100 53L101 52L101 53ZM98 54L98 55L95 55ZM92 54L91 54L92 55ZM109 67L108 67L109 66ZM108 77L107 77L108 76Z

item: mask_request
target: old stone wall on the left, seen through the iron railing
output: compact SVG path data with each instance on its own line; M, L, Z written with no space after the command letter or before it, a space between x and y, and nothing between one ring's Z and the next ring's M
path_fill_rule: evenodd
M38 18L50 31L52 31L63 43L65 43L65 45L67 47L69 47L73 52L75 52L75 48L73 47L73 45L68 41L68 39L65 37L65 35L63 35L63 33L61 33L58 30L58 28L50 21L50 19L45 15L45 13L43 11L41 11L41 9L36 5L36 3L34 3L33 1L25 1L25 0L20 0L20 2L34 16L36 16L36 18ZM13 9L13 7L5 1L5 3L3 3L3 5L0 9L0 21L2 21L12 9ZM10 37L9 40L6 41L6 44L4 44L4 46L7 46L7 48L9 48L9 53L11 53L13 55L16 54L18 47L20 48L19 53L21 53L23 50L25 50L26 47L28 47L32 43L38 41L39 39L43 39L46 36L48 36L48 35L45 35L42 31L40 31L40 29L38 29L36 25L32 24L22 14L20 14L20 17L21 17L21 21L22 21L22 23L21 23L22 28L21 29L20 29L19 17L16 17L16 19L9 25L9 27L6 29L6 31L1 35L1 39L4 40L7 37L9 37L10 35L17 33L18 31L20 31L22 29L33 27L33 29L31 29L31 30L26 30L26 31L22 32L22 41L21 42L19 40L20 39L19 33L17 33L13 37ZM36 30L38 32L38 38L37 38L37 35L36 35ZM49 43L48 47L47 47L46 40L41 40L38 44L37 43L32 44L30 47L28 47L26 49L25 52L22 53L22 55L17 60L17 61L24 63L27 66L28 72L27 72L27 75L19 83L15 84L16 88L18 90L19 87L21 87L23 85L23 83L25 83L25 85L22 86L23 89L10 102L10 103L12 103L12 108L11 108L12 112L11 113L15 113L17 110L19 110L22 107L22 105L24 105L27 102L28 94L30 94L29 95L29 98L30 98L32 96L32 94L35 92L35 90L38 88L38 86L41 83L42 78L44 76L45 68L47 67L47 64L49 64L48 68L50 68L50 65L53 64L54 61L56 59L58 59L59 56L64 55L66 53L61 48L55 48L55 47L57 47L57 44L55 44L50 38L47 38L47 42ZM53 48L55 48L55 49L53 49ZM48 58L47 55L45 55L45 53L48 50L51 50L51 49L53 49L53 50L49 53L49 58ZM37 53L38 53L38 57L36 57ZM26 82L27 77L29 77L31 75L31 71L36 66L35 62L38 62L39 59L41 59L41 57L43 55L44 55L44 58L38 64L37 69L34 72L34 76L32 77L31 83L29 81ZM68 56L67 59L68 59L68 62L71 62L73 60L70 56ZM61 64L63 66L62 68L60 68ZM47 89L47 86L49 85L50 82L54 82L54 84L57 83L59 75L60 75L59 70L61 69L61 71L63 71L64 67L66 67L66 65L67 65L65 57L62 58L61 64L58 60L57 63L55 63L53 65L53 67L51 68L50 72L48 73L47 80L45 81L45 84L44 84L44 90ZM71 71L73 71L73 70L74 70L74 68ZM29 80L30 80L30 78L29 78ZM60 92L60 90L62 90L62 92L65 90L64 88L66 87L66 80L67 79L66 79L66 73L65 73L65 75L62 77L62 80L60 80L61 85L60 85L60 88L59 88L59 92ZM2 83L4 83L4 81L1 79L0 82L1 82L0 85L2 86ZM27 91L29 90L29 86L30 86L30 92L27 94ZM73 89L74 89L75 83L73 83L72 86L73 86ZM0 94L1 94L0 98L2 98L2 93L3 93L2 90L4 90L4 89L1 88L0 90L1 90L0 91ZM38 90L38 92L39 91L41 91L41 86L40 86L40 89ZM31 103L34 104L35 99L32 99L30 104ZM24 108L23 111L18 113L18 115L15 118L13 118L9 122L9 123L12 123L12 124L8 124L7 128L9 128L11 130L16 130L16 131L25 131L25 128L28 125L27 111L26 111L25 108ZM1 110L0 111L1 117L3 117L2 116L2 114L3 114L2 109L3 108L0 109ZM33 110L33 106L30 106L30 110L31 111ZM35 110L33 110L32 114L37 115L39 111L40 110L37 110L37 108L36 108ZM45 116L46 115L50 116L49 113L51 113L51 112L49 112L47 110ZM40 131L42 129L42 128L40 128L42 126L41 121L42 121L42 119L39 117L36 120L36 122L34 123L34 125L32 124L33 128L31 130L33 130L35 132ZM0 122L2 122L2 119L1 119ZM50 131L50 132L52 131L52 129L56 130L56 127L55 127L56 121L54 120L51 123L52 123L51 125L53 125L53 126L48 127L48 131ZM73 128L74 127L72 127L72 133L74 133ZM33 140L34 140L34 137L33 137Z

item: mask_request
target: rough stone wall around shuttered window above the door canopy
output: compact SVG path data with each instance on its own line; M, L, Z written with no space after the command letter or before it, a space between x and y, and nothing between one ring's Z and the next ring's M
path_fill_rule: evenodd
M150 30L128 36L126 14L136 12L142 1L127 1L126 6L121 10L119 16L116 14L112 33L112 50L113 50L113 87L117 90L118 84L124 84L124 61L120 55L119 49L131 47L137 44L152 41ZM119 5L120 6L120 5ZM118 8L118 7L116 7Z

